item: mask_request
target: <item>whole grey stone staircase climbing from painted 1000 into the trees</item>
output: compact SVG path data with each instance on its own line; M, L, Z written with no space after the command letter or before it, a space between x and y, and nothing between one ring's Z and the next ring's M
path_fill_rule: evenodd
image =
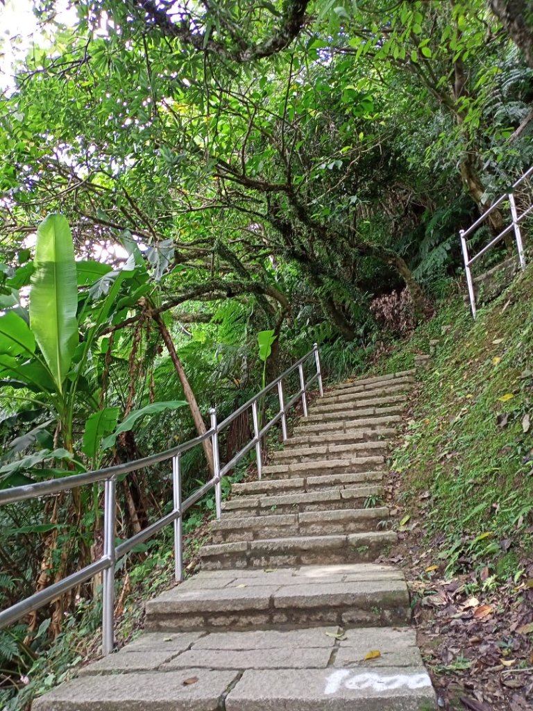
M434 711L382 479L414 371L325 393L261 481L235 484L202 570L145 633L34 711Z

